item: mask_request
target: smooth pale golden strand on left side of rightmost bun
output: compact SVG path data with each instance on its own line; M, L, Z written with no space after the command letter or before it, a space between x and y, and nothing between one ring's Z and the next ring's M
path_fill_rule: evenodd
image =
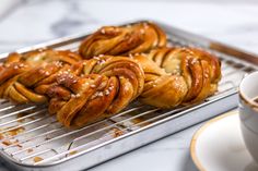
M160 108L172 108L183 102L188 87L181 75L166 73L144 56L134 56L133 59L141 63L145 74L140 96L142 102Z

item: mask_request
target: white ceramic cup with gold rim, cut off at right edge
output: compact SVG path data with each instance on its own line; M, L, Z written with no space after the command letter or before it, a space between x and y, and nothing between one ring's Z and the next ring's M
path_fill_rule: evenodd
M241 129L245 145L258 162L258 72L254 72L243 78L239 85L239 118Z

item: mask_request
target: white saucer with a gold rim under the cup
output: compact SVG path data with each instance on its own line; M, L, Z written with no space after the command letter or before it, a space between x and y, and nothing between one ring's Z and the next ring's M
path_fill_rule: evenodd
M195 134L190 150L201 171L258 171L245 147L237 111L206 123Z

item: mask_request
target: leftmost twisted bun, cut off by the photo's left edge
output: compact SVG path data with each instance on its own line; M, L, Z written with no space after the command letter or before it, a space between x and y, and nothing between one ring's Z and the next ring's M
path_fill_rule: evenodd
M56 72L66 70L80 59L71 51L50 49L11 53L0 70L0 97L17 103L46 102L40 85L50 84Z

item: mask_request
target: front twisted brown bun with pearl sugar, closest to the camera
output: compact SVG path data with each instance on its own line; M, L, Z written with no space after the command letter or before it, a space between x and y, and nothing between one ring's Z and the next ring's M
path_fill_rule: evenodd
M49 112L63 125L80 127L122 110L143 84L143 71L131 59L105 56L79 62L48 88Z

